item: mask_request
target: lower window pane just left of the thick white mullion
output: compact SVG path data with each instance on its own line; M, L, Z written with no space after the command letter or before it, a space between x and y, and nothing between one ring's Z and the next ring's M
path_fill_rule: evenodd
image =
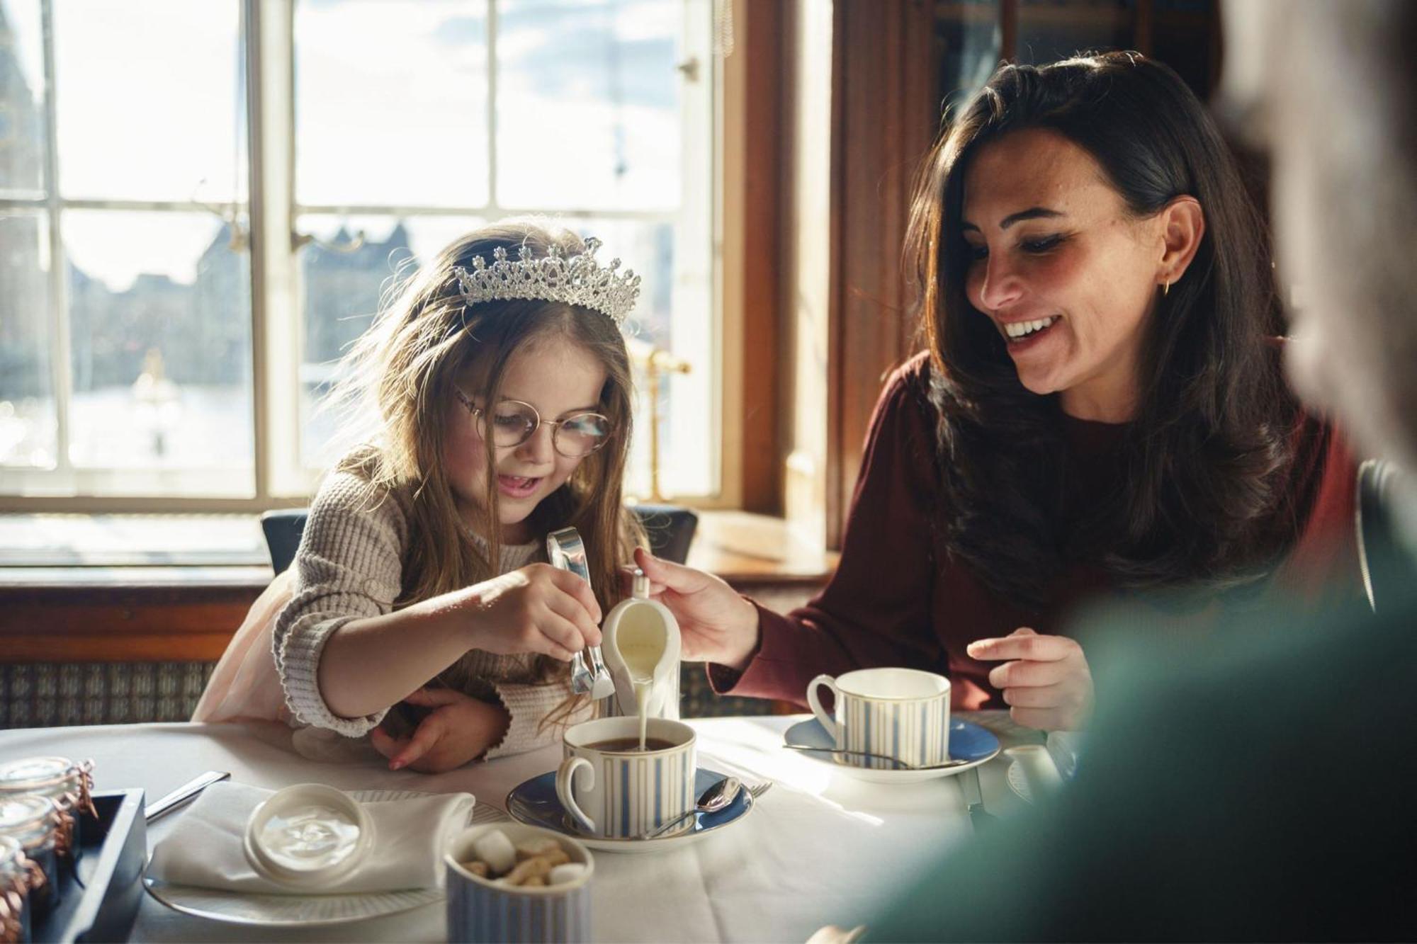
M71 462L225 471L180 489L249 492L249 259L231 249L227 224L197 213L74 210L62 232ZM170 492L174 482L153 476L149 489Z

